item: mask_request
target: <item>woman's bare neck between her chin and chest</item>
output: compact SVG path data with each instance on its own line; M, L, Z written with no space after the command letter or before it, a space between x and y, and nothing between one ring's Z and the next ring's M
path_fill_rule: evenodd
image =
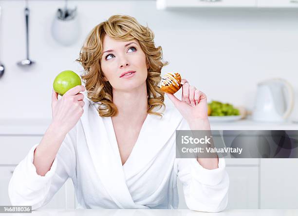
M113 89L113 103L117 106L117 116L120 118L146 117L148 110L146 83L131 89L131 91Z

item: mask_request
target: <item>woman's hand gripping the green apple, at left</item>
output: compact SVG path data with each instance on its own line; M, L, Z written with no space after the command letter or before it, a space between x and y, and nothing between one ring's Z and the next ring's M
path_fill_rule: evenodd
M80 91L85 91L83 85L77 85L69 89L62 98L58 100L58 93L53 89L52 124L59 127L65 134L75 126L84 113L84 95L79 93Z

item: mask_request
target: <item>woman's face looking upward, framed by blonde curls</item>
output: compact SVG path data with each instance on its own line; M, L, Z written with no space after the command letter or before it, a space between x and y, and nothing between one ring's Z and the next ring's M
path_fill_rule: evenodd
M146 82L146 55L135 39L118 41L105 35L100 64L105 81L114 89L127 91Z

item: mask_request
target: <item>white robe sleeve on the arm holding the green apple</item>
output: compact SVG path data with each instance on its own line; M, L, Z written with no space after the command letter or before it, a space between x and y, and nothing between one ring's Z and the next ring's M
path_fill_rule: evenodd
M75 127L74 127L75 129ZM37 174L33 164L35 144L16 166L8 185L12 205L29 205L32 210L47 204L69 177L75 175L75 133L65 136L50 170L45 176Z

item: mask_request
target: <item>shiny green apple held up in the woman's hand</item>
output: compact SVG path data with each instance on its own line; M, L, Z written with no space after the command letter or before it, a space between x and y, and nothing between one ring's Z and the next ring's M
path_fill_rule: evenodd
M59 73L53 83L54 91L63 96L69 89L81 85L80 77L72 70L64 70Z

